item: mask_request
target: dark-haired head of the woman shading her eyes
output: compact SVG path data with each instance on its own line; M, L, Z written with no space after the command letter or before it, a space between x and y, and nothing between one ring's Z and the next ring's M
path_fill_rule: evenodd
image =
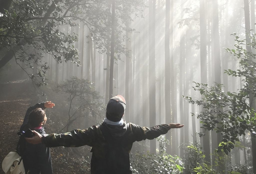
M29 114L29 127L35 128L37 127L41 122L44 122L45 118L45 111L41 108L36 108Z

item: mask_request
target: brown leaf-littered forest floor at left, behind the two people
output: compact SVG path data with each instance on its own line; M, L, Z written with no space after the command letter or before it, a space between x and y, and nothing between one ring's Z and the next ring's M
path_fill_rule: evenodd
M18 142L17 132L22 125L23 118L29 106L35 104L33 85L29 79L13 80L0 83L0 163L10 152L15 151ZM47 124L47 123L46 123ZM55 124L48 124L46 133L55 130ZM54 174L89 174L90 160L77 158L70 149L57 147L51 148L53 173ZM79 149L76 150L79 153ZM4 174L2 168L0 174Z

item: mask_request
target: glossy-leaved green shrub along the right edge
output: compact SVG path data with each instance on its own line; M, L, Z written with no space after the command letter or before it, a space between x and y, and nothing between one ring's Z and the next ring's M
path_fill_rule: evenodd
M236 71L226 70L225 73L232 76L242 78L243 87L238 92L225 92L222 90L223 85L215 83L209 87L207 84L196 83L193 87L195 91L199 91L203 96L201 100L195 100L191 97L184 97L189 103L203 106L205 111L197 115L202 128L205 131L216 130L221 132L223 140L218 146L218 151L228 154L234 148L235 141L239 141L238 136L245 135L245 131L255 132L256 130L256 111L249 103L250 97L256 97L256 63L253 61L256 54L246 50L245 41L239 40L234 34L236 40L236 50L226 49L227 52L233 54L240 63L240 69ZM252 35L255 37L255 35ZM254 39L255 40L255 39ZM249 44L254 46L255 43ZM221 111L220 109L223 109ZM192 115L194 115L192 113ZM202 137L204 132L199 133Z

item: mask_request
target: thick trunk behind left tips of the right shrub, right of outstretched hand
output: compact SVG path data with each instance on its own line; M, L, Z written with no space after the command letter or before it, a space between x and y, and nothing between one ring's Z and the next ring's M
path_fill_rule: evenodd
M201 83L207 83L207 50L206 50L206 12L205 12L205 0L200 0L200 76ZM201 96L202 98L204 96ZM203 107L200 108L200 111L205 111ZM202 126L202 124L200 124ZM211 163L211 152L210 152L210 140L209 132L206 131L206 135L203 138L203 150L206 155L206 161Z

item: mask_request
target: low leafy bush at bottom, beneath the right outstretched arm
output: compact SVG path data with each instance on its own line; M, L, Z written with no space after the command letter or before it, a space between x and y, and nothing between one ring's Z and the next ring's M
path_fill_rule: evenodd
M144 154L138 152L132 156L131 166L133 173L138 174L181 174L184 170L182 160L176 156L166 154L165 145L168 140L164 136L157 138L160 154Z

